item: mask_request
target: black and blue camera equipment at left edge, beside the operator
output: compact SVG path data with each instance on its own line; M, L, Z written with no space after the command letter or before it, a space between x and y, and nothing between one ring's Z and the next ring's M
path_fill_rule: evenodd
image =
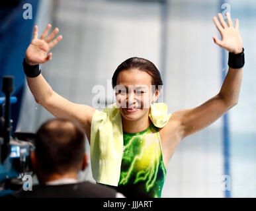
M24 175L32 175L30 152L34 150L34 133L12 131L11 104L17 102L13 92L13 76L3 76L0 98L0 196L22 188Z

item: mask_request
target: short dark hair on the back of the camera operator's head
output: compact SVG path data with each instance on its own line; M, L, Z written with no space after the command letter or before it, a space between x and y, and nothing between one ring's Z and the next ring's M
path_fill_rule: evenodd
M85 131L76 121L50 119L36 132L35 147L44 173L78 171L85 156Z

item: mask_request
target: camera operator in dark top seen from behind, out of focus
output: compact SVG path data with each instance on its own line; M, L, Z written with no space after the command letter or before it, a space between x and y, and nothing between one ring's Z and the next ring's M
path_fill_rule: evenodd
M124 197L114 189L80 182L77 173L87 167L85 132L76 121L50 119L36 133L31 162L39 185L18 191L15 197Z

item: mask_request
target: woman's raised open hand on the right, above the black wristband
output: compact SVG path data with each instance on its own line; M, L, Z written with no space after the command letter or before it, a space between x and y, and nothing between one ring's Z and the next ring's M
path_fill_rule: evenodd
M214 42L220 47L228 50L230 53L241 53L241 51L243 51L243 42L241 40L241 36L238 30L239 20L235 19L235 27L233 27L230 13L226 13L226 17L228 20L228 26L222 14L218 13L218 18L220 22L218 21L218 18L216 18L216 16L212 18L214 24L216 25L222 36L222 40L218 40L218 38L214 36Z

